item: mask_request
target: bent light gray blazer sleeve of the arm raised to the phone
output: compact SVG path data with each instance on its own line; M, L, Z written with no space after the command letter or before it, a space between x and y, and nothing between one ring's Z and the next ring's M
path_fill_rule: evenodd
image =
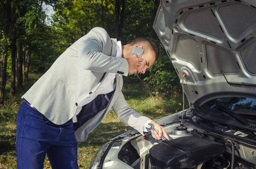
M111 39L107 31L100 27L93 28L81 38L77 46L81 66L95 72L123 72L122 75L127 76L129 68L126 59L102 53L107 43L111 43Z

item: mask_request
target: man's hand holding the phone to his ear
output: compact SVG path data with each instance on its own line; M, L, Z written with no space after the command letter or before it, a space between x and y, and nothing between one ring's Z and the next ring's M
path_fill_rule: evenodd
M138 54L134 54L130 57L126 58L128 62L128 67L129 67L129 74L133 74L137 72L138 67L141 66L141 63L143 61L143 58L138 58Z

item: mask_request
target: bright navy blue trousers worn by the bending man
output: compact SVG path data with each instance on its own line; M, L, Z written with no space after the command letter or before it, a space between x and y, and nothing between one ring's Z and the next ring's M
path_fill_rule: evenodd
M77 142L72 119L55 125L23 102L17 115L18 169L43 169L45 155L53 169L77 169Z

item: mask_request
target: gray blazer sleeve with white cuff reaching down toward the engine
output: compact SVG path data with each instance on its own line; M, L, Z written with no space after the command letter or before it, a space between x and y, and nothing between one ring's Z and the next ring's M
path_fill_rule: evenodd
M113 110L116 113L117 117L124 122L125 124L133 127L142 135L144 135L143 129L144 125L149 118L141 116L137 111L130 108L126 102L124 95L120 91L119 96L113 104Z

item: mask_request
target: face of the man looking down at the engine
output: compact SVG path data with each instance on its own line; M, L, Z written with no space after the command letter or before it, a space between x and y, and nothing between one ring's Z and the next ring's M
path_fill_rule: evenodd
M152 64L154 64L155 59L156 59L156 54L153 51L147 51L144 52L141 56L141 58L143 58L143 61L140 62L141 66L137 69L136 73L145 73L147 68L149 68L150 66L152 66Z

